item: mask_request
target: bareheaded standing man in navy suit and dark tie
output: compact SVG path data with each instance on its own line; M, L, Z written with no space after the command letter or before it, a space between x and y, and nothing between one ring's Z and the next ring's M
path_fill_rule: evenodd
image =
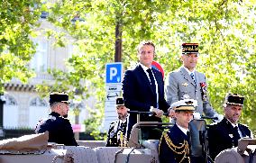
M138 46L138 65L126 70L123 77L125 106L131 111L155 113L154 115L142 114L140 117L142 122L161 122L162 114L169 109L169 104L164 98L163 77L159 70L151 68L154 56L155 45L151 41L142 41ZM136 115L130 114L128 136L136 122Z

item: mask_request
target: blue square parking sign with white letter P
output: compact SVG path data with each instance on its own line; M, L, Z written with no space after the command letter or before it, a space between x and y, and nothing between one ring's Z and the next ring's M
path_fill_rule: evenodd
M122 62L105 64L105 83L121 83L123 75Z

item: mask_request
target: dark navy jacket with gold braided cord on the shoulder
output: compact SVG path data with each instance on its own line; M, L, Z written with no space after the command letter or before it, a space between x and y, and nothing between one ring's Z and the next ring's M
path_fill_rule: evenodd
M187 135L174 124L169 132L163 132L159 145L160 163L187 163L189 140Z

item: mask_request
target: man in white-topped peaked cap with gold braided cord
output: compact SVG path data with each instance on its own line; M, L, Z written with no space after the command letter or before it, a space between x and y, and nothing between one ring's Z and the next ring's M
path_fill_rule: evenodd
M171 104L176 122L160 138L159 154L161 163L193 162L189 154L188 122L193 119L197 101L184 99Z

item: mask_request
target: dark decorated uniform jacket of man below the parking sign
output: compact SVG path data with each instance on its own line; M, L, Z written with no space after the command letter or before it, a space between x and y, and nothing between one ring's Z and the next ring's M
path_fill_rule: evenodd
M126 131L127 131L127 121L116 121L110 124L109 130L107 132L106 147L123 147L126 146Z

